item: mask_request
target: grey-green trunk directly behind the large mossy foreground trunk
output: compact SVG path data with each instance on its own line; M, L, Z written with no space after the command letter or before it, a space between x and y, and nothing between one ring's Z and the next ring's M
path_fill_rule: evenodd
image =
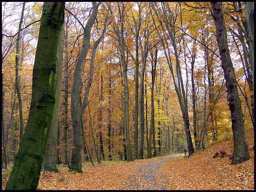
M46 145L46 151L44 156L44 170L59 172L56 166L56 142L57 142L57 129L58 129L58 117L59 106L61 100L61 87L62 87L62 66L63 66L63 33L62 27L61 34L59 36L58 49L56 55L56 85L55 85L55 104L53 109L52 123L49 130L49 136Z

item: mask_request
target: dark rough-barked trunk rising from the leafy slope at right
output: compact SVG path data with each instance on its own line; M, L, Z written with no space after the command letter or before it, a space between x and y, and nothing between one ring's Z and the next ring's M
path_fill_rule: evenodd
M216 40L221 56L222 68L226 79L226 88L229 99L229 108L232 119L234 152L232 164L244 162L250 158L244 134L244 116L242 114L241 100L236 85L236 77L227 44L227 31L221 2L211 2L213 19L217 31Z

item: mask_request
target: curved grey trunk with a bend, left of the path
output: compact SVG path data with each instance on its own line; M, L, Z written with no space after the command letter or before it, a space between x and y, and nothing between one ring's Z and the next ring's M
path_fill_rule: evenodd
M90 46L90 33L91 27L96 20L96 16L98 13L98 7L101 3L96 5L96 2L93 2L93 11L84 27L84 37L83 44L78 55L78 59L76 61L75 72L73 76L73 84L72 84L72 93L71 93L71 115L72 115L72 140L73 140L73 148L72 148L72 158L70 169L75 170L77 172L82 172L82 162L81 162L81 108L79 107L79 93L81 88L81 74L82 67L85 62L85 58L88 53L88 49Z

